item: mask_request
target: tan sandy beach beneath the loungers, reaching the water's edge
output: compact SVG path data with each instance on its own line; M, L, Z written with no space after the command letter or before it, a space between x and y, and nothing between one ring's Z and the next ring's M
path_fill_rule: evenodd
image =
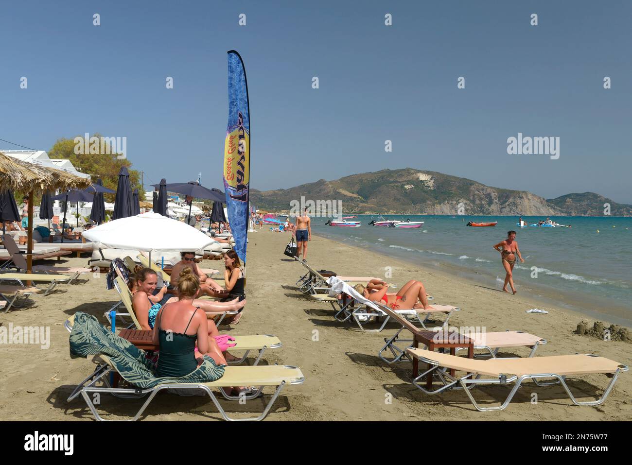
M286 233L257 229L249 234L246 294L248 303L238 325L222 325L222 334L274 334L283 342L269 349L262 363L296 365L305 375L302 385L288 386L270 410L266 421L284 420L632 420L632 377L623 373L602 406L578 407L569 401L562 387L536 387L528 382L507 409L481 413L471 406L463 392L428 396L411 382L411 364L392 366L377 357L384 338L398 329L389 323L379 334L365 334L357 327L334 320L331 306L305 299L294 286L303 267L282 255L289 240ZM401 286L409 279L422 281L434 303L458 306L461 311L451 326L482 326L487 331L523 330L547 339L536 356L592 353L624 365L632 361L632 344L600 341L574 334L584 315L544 307L547 315L525 313L542 303L518 293L473 284L461 278L392 260L367 249L353 248L313 237L308 261L317 269L341 275L375 275ZM87 258L70 258L50 264L85 266ZM202 262L203 267L223 269L221 261ZM517 283L520 286L520 282ZM520 287L518 287L520 289ZM71 359L68 332L63 322L76 311L95 315L103 323L104 311L118 301L116 291L106 290L105 275L84 275L78 284L57 287L48 296L34 295L30 305L0 313L5 327L50 327L48 349L34 345L0 345L0 420L87 420L92 421L85 402L66 398L94 369L90 359ZM526 356L528 349L504 351L504 356ZM252 363L252 359L250 360ZM607 385L603 375L571 379L577 397L600 396ZM477 389L477 399L504 399L506 387ZM265 392L269 392L266 390ZM531 393L538 393L538 404ZM386 402L392 395L392 402ZM485 394L485 396L482 396ZM259 410L264 401L222 401L228 411ZM229 405L230 404L230 405ZM255 405L256 406L253 406ZM250 409L250 407L252 409ZM140 401L104 396L100 411L108 419L125 418L137 411ZM179 397L159 394L142 420L217 420L221 418L208 397Z

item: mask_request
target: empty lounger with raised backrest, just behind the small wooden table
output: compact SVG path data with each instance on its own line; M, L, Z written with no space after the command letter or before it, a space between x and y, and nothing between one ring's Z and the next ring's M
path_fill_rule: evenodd
M412 339L400 339L399 334L404 330L408 330L411 333L417 332L419 329L413 325L409 320L407 320L403 315L400 315L396 311L392 310L389 306L382 305L378 303L380 309L384 311L389 317L392 318L393 321L401 324L401 328L390 338L384 338L384 346L377 353L380 359L385 361L386 363L395 363L397 361L402 361L406 359L406 349L408 347L412 347L413 340ZM471 333L471 332L462 332L461 334L473 339L474 341L474 349L483 349L487 351L487 354L475 354L475 357L480 358L482 356L491 356L492 358L496 358L498 351L502 348L508 347L529 347L531 352L528 354L528 357L533 357L535 351L539 346L546 344L546 339L542 337L528 334L523 331L499 331L499 332L485 332L485 333ZM408 343L407 347L401 348L398 347L397 344L399 342ZM456 349L459 351L460 349ZM385 353L392 354L392 358L386 358Z

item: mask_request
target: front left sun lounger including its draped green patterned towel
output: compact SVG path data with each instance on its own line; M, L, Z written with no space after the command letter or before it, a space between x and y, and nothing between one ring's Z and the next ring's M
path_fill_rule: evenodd
M212 363L210 357L204 356L204 363L197 370L181 378L155 378L150 369L150 362L143 357L143 352L132 346L125 339L107 335L104 329L96 321L85 313L75 314L73 327L80 326L78 332L70 335L70 351L73 357L85 357L98 355L104 363L97 366L96 370L85 380L79 383L68 397L72 401L81 396L86 402L92 414L99 421L105 421L95 408L92 394L114 394L118 397L147 397L141 408L132 418L138 420L143 411L149 406L155 395L163 389L178 390L202 390L209 395L219 413L227 421L259 421L263 420L276 401L281 389L286 384L301 384L305 380L303 373L296 366L288 365L264 365L264 366L220 366ZM125 380L126 386L112 387L107 376L111 372L117 372ZM223 375L222 375L223 373ZM203 378L216 378L212 382L202 382ZM219 378L218 378L219 377ZM97 387L97 382L102 382L103 387ZM217 400L212 391L213 388L254 385L258 389L246 396L229 396L223 389L219 392L229 400L250 400L258 397L267 386L274 386L276 390L270 401L265 405L263 412L251 418L231 418Z

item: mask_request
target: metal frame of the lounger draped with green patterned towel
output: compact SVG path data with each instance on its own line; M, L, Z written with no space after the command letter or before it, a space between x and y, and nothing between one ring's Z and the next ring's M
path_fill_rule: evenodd
M191 383L191 384L164 383L164 384L159 384L150 389L138 389L135 387L130 387L130 388L111 387L108 380L109 377L107 375L109 375L109 373L111 372L116 373L116 369L112 366L111 362L106 356L101 355L100 357L104 359L105 363L102 363L99 366L97 366L97 369L91 375L85 378L75 388L75 390L73 390L73 392L68 397L68 402L71 402L79 394L81 394L81 396L83 397L83 400L85 401L85 403L87 404L88 408L90 409L90 411L92 412L92 414L94 415L97 421L136 421L138 420L138 418L140 418L140 416L143 414L147 406L149 406L151 401L154 400L155 395L158 394L158 392L160 392L163 389L186 389L186 390L201 389L201 390L204 390L206 394L208 394L211 401L216 406L217 410L221 414L222 418L224 418L224 420L226 421L261 421L265 418L265 416L267 416L267 414L270 411L270 408L272 408L272 405L276 401L277 397L279 397L279 394L281 394L281 390L283 389L284 385L286 385L286 381L284 380L282 380L278 385L270 384L270 385L276 385L276 390L274 391L274 394L272 394L272 397L270 397L270 401L267 402L267 404L265 405L265 408L262 411L262 413L259 414L258 416L248 417L248 418L232 418L231 416L228 416L228 414L226 414L226 411L224 410L224 408L222 408L222 405L219 403L219 400L217 399L214 392L210 389L210 387L202 383ZM296 370L298 368L293 365L283 365L283 366L284 368L288 368L291 370ZM97 387L96 383L99 381L103 382L105 387ZM304 381L305 381L305 377L301 376L300 378L292 380L291 382L289 382L289 384L291 385L301 384ZM258 397L260 395L260 392L262 392L264 387L265 385L259 386L258 389L250 396L247 396L247 395L246 396L228 396L226 395L226 393L224 393L223 389L219 389L219 392L221 392L222 396L225 399L228 399L231 401L241 400L241 399L252 400L252 399L255 399L255 397ZM112 395L118 394L119 396L127 395L127 396L131 396L132 398L144 397L149 394L149 397L147 397L147 400L143 403L140 409L138 409L137 413L130 420L106 420L105 418L102 418L102 416L99 415L99 412L97 411L94 402L90 398L90 394L94 394L94 393L99 393L99 394L103 393L103 394L112 394Z

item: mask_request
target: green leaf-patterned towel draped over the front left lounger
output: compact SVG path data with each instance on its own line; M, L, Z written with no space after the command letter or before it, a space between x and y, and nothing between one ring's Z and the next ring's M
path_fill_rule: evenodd
M217 366L212 358L205 355L202 365L186 376L156 378L155 365L145 357L145 351L107 330L97 318L78 311L70 334L70 357L97 354L108 356L123 379L142 389L163 383L207 383L224 375L224 366Z

